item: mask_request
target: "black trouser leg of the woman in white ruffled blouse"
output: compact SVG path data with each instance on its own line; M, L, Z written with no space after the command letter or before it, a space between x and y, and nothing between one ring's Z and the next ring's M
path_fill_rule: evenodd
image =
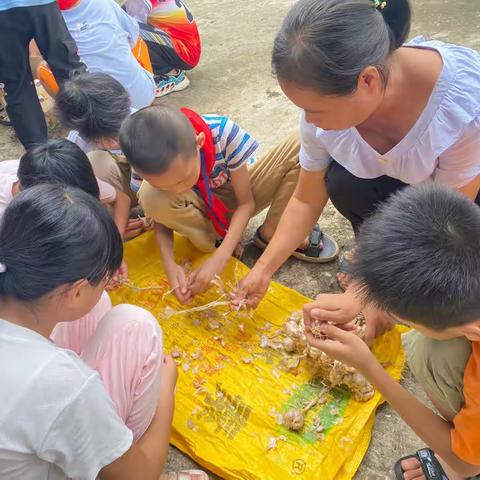
M332 161L325 177L328 195L335 208L352 224L355 233L361 223L392 193L407 186L395 178L358 178Z

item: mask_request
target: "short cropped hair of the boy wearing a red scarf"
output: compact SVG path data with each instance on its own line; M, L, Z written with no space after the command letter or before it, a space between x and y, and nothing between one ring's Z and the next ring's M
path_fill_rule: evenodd
M120 145L133 168L150 174L165 173L176 158L189 158L197 149L188 118L167 105L145 107L126 118Z

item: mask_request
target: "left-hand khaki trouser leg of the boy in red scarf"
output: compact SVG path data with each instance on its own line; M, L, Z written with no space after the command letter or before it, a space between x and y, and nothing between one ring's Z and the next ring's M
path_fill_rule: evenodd
M184 235L202 252L215 249L218 235L205 214L202 198L193 190L173 194L143 182L138 203L147 217Z

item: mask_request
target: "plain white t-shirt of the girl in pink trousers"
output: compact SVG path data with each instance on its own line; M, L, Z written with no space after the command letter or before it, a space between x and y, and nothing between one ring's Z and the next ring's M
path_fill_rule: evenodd
M2 480L94 480L132 444L97 372L0 320Z

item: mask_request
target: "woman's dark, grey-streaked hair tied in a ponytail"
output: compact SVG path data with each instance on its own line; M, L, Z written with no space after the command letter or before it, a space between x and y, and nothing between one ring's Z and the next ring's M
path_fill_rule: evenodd
M370 65L386 83L386 60L406 41L410 20L409 0L300 0L275 38L273 71L325 95L352 93Z

